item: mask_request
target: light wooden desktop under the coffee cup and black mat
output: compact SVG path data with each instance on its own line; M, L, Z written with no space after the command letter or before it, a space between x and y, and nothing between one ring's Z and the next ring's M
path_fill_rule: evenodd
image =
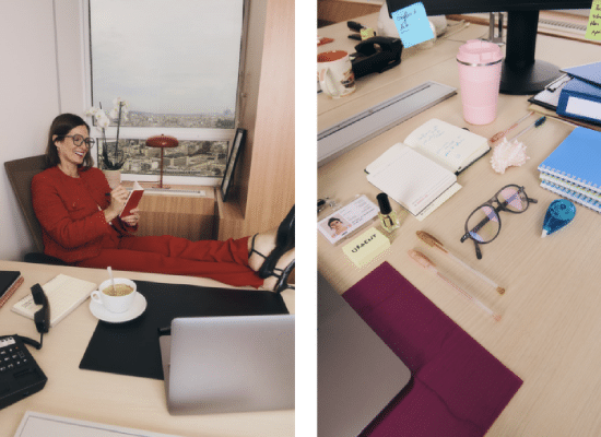
M103 270L74 267L0 261L0 269L19 270L25 279L0 309L0 333L19 333L36 340L38 334L33 321L10 309L30 293L32 285L44 284L58 273L98 284L106 279ZM118 271L115 275L141 281L227 287L213 280L190 276ZM294 291L286 290L283 297L290 312L294 314ZM170 416L163 381L81 370L79 364L96 322L86 300L44 335L40 351L30 349L48 382L38 393L0 410L1 436L13 436L27 410L178 436L294 436L294 411Z

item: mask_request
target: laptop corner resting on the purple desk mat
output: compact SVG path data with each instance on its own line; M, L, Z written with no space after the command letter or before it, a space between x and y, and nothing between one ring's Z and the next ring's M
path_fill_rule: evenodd
M321 275L317 332L318 436L357 436L411 371Z

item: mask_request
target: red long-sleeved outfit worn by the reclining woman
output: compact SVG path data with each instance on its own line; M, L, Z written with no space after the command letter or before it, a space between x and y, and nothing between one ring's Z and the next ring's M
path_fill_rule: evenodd
M104 174L94 167L80 170L79 178L58 167L34 176L32 200L45 253L78 267L211 277L235 286L262 284L248 267L248 237L227 241L137 237L129 234L135 227L119 218L106 223L103 210L109 193Z

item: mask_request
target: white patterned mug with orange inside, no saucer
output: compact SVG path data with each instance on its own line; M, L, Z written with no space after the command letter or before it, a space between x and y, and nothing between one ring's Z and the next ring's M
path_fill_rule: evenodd
M317 56L317 72L321 91L333 98L355 91L355 73L349 54L344 50L325 51Z

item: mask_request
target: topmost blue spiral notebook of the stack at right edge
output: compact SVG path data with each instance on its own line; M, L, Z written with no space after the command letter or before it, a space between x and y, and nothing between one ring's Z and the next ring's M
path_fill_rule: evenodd
M601 193L601 132L574 129L538 169Z

